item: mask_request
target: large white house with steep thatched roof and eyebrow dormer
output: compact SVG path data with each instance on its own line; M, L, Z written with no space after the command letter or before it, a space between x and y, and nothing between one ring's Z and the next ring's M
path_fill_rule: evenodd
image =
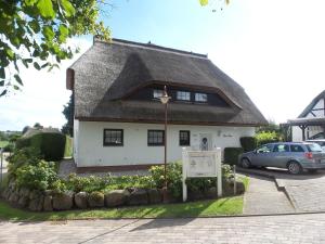
M94 39L67 69L74 98L74 158L79 169L162 164L168 104L168 162L182 147L239 146L266 120L244 89L204 54L152 43Z

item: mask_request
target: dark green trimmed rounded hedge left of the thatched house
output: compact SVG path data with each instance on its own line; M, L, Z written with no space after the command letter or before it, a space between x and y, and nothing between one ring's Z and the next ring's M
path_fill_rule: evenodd
M64 157L66 138L63 133L40 132L16 141L16 149L31 146L39 150L46 160L61 160Z

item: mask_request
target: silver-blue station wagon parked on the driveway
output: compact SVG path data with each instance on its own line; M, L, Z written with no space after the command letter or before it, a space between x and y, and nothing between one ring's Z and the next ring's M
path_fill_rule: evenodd
M243 153L238 163L244 168L277 167L287 168L297 175L303 169L316 171L325 169L325 152L316 143L277 142L264 144L252 152Z

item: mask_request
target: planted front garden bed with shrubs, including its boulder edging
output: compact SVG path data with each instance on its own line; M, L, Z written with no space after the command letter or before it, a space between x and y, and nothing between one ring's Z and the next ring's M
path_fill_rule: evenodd
M154 166L150 176L78 177L70 175L61 179L55 164L46 162L29 149L16 152L10 158L9 179L2 197L11 205L31 211L53 211L91 208L116 208L125 206L162 203L164 167ZM223 165L224 196L233 195L233 175L230 166ZM168 164L167 203L182 201L182 165ZM187 179L190 201L216 200L217 179ZM245 191L237 182L237 194Z

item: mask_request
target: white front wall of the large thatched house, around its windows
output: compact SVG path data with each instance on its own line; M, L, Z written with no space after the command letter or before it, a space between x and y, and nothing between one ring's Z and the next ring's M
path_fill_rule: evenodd
M75 124L76 125L76 124ZM103 146L104 129L123 129L123 146ZM130 123L79 121L75 152L78 167L161 164L164 146L147 145L147 130L164 129L164 125ZM198 149L199 133L212 134L213 147L240 146L240 137L255 134L253 127L178 126L167 129L168 162L181 159L179 130L191 131L191 145Z

